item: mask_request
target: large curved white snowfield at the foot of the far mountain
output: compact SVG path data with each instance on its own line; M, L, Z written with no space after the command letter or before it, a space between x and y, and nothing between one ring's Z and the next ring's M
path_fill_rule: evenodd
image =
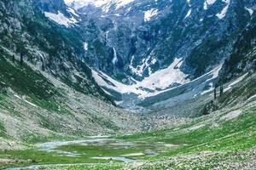
M205 82L208 82L211 88L201 92L201 94L207 94L213 90L212 80L218 77L218 73L222 68L222 64L218 65L205 75L198 77L195 80L190 80L187 78L188 75L184 74L183 71L180 70L181 65L183 65L183 59L176 58L172 62L172 65L166 69L149 74L149 76L145 77L141 82L133 80L135 83L131 85L118 82L102 71L92 70L92 76L106 92L106 89L110 89L120 94L137 94L139 99L146 99L148 97L165 93L166 91L172 90L173 88L177 88L178 86L189 82L195 82L203 77L209 77ZM133 69L136 70L135 68Z

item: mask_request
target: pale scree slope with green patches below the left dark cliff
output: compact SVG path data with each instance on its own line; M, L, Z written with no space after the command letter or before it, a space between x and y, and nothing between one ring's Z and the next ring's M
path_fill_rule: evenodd
M0 48L0 138L33 144L116 133L137 123L136 116L80 94L26 62L20 65L7 49ZM1 142L4 150L8 142Z

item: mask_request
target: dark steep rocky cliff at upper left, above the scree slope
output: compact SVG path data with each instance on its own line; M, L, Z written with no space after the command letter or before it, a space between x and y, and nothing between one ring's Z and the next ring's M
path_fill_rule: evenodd
M2 54L36 65L38 70L49 72L84 94L110 100L94 81L90 68L80 60L84 52L79 48L83 43L73 36L77 32L55 25L38 7L59 12L62 8L69 14L67 19L75 20L63 1L1 2Z

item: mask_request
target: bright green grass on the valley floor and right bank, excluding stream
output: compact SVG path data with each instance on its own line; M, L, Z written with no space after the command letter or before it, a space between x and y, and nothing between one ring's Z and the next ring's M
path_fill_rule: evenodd
M130 136L117 137L124 142L132 142L137 144L133 147L124 148L122 146L113 146L108 144L81 145L70 144L56 148L57 150L75 152L82 154L79 157L61 156L57 153L47 153L44 151L33 150L14 150L0 152L0 156L14 157L21 160L34 160L35 163L27 161L21 165L28 164L55 164L55 163L104 163L109 161L94 160L93 156L121 156L131 153L144 152L151 149L160 153L159 156L130 156L133 159L142 159L144 161L165 161L174 156L198 155L204 151L212 151L212 153L223 153L222 155L210 156L207 161L214 163L215 161L228 160L230 156L242 150L250 150L256 146L256 107L252 107L244 111L243 115L236 117L230 121L217 121L218 127L212 127L212 123L206 123L205 127L197 130L188 131L189 126L195 126L191 123L189 126L183 126L177 129L167 129L154 133L137 133ZM166 144L179 144L179 147L157 148L154 144L165 142ZM128 156L129 157L129 156ZM239 157L238 157L239 158ZM238 159L237 158L237 159ZM239 158L240 159L240 158ZM241 158L242 161L243 158ZM189 163L189 161L183 161ZM191 163L191 162L190 162ZM170 162L170 166L173 162ZM193 161L192 164L196 164ZM13 165L14 166L14 165ZM16 166L16 165L15 165ZM106 165L91 165L92 169L111 167ZM113 163L113 169L123 168L124 164ZM157 163L155 165L157 167ZM162 165L160 165L161 167ZM67 167L67 169L83 169L84 166ZM88 166L87 166L88 167ZM90 167L90 166L89 166ZM89 168L88 167L88 168ZM211 167L211 166L210 166ZM211 169L208 167L209 169ZM148 167L149 168L149 167ZM147 169L147 168L146 168Z

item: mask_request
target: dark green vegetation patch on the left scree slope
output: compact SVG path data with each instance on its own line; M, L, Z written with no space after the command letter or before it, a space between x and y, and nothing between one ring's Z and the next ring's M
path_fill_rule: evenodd
M0 55L0 80L2 82L9 84L9 88L20 96L26 95L32 103L49 111L58 111L55 96L60 94L51 82L25 63L20 65L17 60L12 62L3 57L8 54Z

